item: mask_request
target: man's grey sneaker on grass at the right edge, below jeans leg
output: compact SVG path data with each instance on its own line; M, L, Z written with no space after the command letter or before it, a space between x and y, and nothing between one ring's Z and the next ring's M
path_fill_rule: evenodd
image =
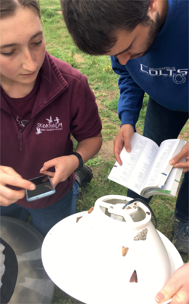
M179 252L188 254L188 223L181 223L176 216L171 216L174 226L172 243Z

